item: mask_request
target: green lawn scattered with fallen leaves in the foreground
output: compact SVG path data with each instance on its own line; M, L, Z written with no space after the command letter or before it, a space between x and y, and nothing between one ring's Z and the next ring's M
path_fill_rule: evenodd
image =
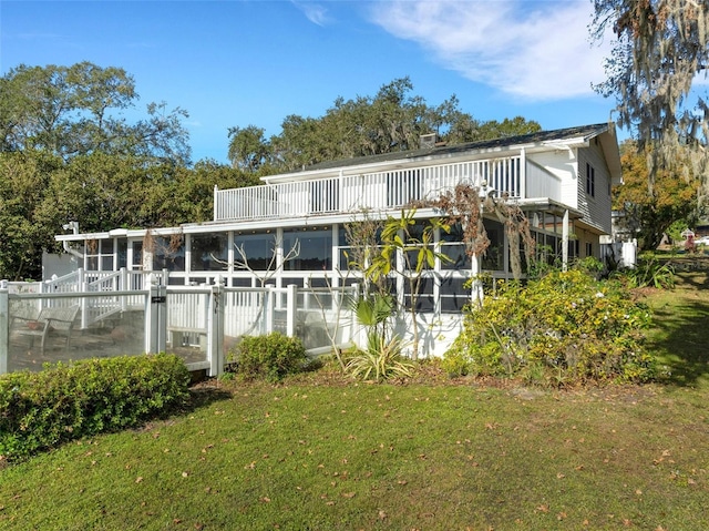
M183 416L0 470L0 529L709 529L708 279L681 276L647 298L656 385L205 385Z

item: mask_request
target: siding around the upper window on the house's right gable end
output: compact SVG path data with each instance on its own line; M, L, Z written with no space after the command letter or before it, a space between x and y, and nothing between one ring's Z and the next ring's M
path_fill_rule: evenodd
M586 164L595 170L595 194L586 192ZM610 172L600 149L600 143L590 141L590 146L578 150L578 198L583 222L605 234L610 234Z

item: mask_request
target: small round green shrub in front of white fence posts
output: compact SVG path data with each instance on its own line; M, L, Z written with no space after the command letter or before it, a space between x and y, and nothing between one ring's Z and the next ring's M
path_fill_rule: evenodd
M229 353L235 372L245 380L279 381L300 372L307 362L306 349L297 337L274 331L266 336L246 336Z

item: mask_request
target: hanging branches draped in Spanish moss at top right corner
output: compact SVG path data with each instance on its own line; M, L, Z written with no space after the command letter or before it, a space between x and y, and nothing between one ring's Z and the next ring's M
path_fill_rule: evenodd
M707 175L709 106L695 81L709 65L709 1L594 0L595 39L613 29L617 42L606 60L607 80L596 86L615 95L618 123L637 131L649 155L648 183L657 172L687 161ZM645 151L650 145L650 151Z

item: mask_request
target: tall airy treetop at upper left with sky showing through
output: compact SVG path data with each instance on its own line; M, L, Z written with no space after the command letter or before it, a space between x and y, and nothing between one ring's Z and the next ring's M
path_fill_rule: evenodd
M96 151L189 162L186 111L150 103L127 123L135 82L125 70L90 62L72 67L21 64L0 78L0 150L47 151L69 160Z

